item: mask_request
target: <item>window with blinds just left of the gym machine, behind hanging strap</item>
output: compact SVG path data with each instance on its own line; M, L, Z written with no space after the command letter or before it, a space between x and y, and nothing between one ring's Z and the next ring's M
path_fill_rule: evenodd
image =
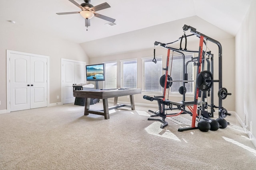
M156 63L152 62L152 58L142 58L142 92L161 93L162 57L156 57Z

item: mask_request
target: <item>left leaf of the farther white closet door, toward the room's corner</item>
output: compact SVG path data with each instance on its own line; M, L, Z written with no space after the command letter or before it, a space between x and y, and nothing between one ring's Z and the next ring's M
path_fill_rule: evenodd
M63 104L75 102L73 84L75 84L74 62L63 61Z

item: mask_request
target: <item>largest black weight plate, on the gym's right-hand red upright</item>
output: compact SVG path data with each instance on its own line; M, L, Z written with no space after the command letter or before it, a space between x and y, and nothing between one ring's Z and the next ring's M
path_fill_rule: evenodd
M205 70L198 74L196 79L196 86L199 90L207 91L212 87L212 82L205 82L205 80L212 80L212 73Z

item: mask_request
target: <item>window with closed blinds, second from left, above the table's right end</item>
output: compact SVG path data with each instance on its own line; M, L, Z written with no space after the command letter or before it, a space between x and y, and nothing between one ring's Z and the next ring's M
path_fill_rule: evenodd
M137 88L137 60L122 60L121 63L121 87Z

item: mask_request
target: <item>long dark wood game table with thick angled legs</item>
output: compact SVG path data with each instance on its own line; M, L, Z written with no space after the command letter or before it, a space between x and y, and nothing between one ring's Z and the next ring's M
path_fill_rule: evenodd
M95 89L95 90L74 90L74 97L85 98L84 115L89 113L96 115L104 115L105 119L109 119L109 110L116 109L119 107L131 107L135 110L134 106L134 94L141 94L141 89ZM120 96L130 96L131 104L118 104L117 100ZM102 99L103 109L102 110L91 110L90 109L90 98ZM114 106L108 107L108 98L114 98Z

